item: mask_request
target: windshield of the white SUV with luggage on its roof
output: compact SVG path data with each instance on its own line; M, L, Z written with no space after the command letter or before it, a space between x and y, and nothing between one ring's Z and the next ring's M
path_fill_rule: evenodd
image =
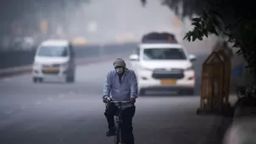
M186 60L186 55L180 48L150 48L144 49L143 60Z

